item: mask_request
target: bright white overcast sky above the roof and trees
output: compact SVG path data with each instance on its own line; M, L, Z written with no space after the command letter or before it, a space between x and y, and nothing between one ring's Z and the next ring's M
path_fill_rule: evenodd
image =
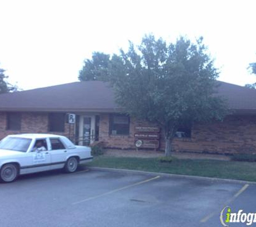
M146 33L203 36L219 80L256 82L255 0L0 0L0 68L22 89L78 81L93 51L117 53Z

